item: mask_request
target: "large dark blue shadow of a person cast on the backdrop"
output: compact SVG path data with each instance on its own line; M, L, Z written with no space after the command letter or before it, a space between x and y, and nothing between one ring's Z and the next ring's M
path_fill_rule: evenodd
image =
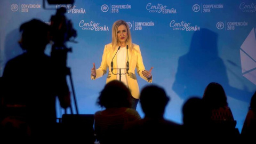
M227 70L218 55L218 34L209 29L195 31L189 51L178 61L178 70L173 83L173 91L181 99L190 95L203 95L205 87L211 82L223 86L228 96L250 101L251 92L239 90L229 85Z

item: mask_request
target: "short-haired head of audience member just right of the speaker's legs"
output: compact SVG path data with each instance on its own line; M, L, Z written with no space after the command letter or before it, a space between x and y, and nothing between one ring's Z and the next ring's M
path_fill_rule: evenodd
M163 117L168 102L169 97L162 87L148 85L141 90L141 108L147 117Z

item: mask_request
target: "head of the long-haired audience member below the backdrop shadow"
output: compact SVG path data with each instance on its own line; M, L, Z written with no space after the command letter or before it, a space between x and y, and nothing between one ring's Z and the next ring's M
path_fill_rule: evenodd
M219 83L210 83L206 86L203 100L213 108L228 106L227 96Z

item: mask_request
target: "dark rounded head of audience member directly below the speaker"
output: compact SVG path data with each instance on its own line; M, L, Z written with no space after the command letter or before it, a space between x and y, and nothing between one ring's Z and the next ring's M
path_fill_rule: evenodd
M123 82L114 80L107 83L100 92L98 105L105 108L131 107L131 92Z

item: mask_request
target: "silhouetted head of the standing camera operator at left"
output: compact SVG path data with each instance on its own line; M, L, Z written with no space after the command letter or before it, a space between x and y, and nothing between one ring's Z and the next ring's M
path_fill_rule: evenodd
M28 53L44 53L50 42L50 26L38 19L32 19L20 26L22 37L20 46Z

